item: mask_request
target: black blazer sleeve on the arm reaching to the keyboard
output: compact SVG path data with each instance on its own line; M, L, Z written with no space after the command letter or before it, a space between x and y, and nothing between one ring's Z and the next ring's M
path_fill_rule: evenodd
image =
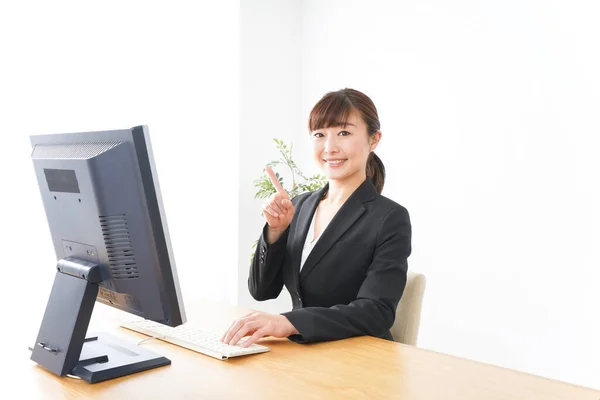
M297 343L381 336L394 324L396 307L406 286L411 253L411 224L405 208L384 218L367 276L356 300L333 307L306 307L282 313L298 330Z

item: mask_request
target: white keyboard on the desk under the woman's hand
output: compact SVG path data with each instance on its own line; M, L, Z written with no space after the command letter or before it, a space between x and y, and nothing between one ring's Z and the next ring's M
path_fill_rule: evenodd
M159 324L158 322L148 320L131 320L120 321L123 328L130 329L135 332L143 333L144 335L153 338L176 344L177 346L185 347L186 349L196 351L217 358L219 360L227 360L231 357L245 356L248 354L264 353L269 351L268 347L258 344L242 347L244 339L235 346L222 343L219 339L221 336L212 332L206 332L195 328L190 328L186 325L180 325L176 328Z

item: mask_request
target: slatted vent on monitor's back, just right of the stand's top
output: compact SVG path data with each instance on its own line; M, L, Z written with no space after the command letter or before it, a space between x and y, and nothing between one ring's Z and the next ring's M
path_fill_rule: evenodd
M125 214L100 216L100 225L113 279L139 278Z

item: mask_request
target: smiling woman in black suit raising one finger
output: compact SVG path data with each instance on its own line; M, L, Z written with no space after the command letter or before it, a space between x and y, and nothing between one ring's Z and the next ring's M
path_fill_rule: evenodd
M309 131L328 183L290 199L267 168L277 193L263 205L267 223L248 279L256 300L276 298L285 285L293 310L249 314L231 325L225 343L246 336L243 346L264 336L298 343L360 335L392 340L411 224L404 207L380 194L377 110L357 90L327 93L310 113Z

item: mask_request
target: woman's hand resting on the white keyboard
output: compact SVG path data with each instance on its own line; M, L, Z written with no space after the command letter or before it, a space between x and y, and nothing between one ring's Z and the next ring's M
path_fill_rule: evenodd
M265 336L284 338L298 334L292 323L283 315L253 312L236 320L221 337L221 342L237 344L241 338L250 336L242 347L248 347Z

